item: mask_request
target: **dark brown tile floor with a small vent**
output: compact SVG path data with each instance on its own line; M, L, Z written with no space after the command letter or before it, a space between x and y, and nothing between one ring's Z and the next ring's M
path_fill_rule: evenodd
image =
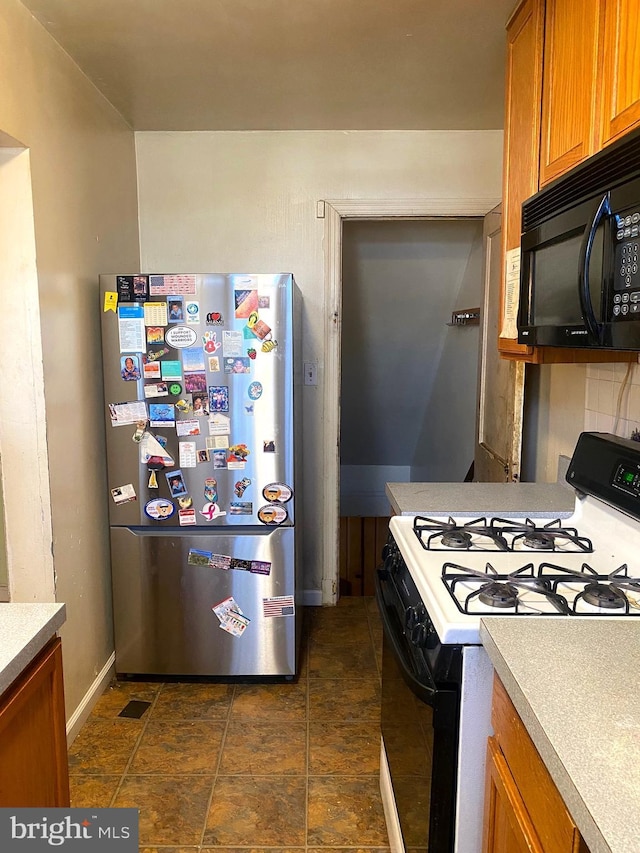
M144 853L386 853L375 602L305 616L296 684L110 687L69 750L71 805L138 808Z

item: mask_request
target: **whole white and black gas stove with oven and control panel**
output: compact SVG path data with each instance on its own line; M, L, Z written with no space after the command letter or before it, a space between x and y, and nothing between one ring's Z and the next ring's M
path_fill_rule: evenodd
M472 518L391 519L376 595L385 629L381 786L393 853L425 844L480 853L493 673L483 616L640 616L640 444L583 433L567 480L576 492L569 518L485 517L478 507ZM413 697L396 695L403 680ZM416 698L433 726L418 714L412 740L411 719L397 709ZM403 768L426 730L421 766L430 777L417 809L420 779L404 795ZM430 764L430 755L438 760ZM428 826L418 813L430 815Z

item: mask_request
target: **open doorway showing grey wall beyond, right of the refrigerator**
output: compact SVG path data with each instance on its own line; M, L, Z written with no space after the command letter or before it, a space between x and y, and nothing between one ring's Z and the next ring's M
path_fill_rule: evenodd
M343 227L340 592L373 592L386 482L461 482L473 460L481 219Z

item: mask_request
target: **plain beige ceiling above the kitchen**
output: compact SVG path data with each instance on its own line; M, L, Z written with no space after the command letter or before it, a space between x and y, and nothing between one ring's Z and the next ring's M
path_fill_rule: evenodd
M503 125L515 0L22 0L134 130Z

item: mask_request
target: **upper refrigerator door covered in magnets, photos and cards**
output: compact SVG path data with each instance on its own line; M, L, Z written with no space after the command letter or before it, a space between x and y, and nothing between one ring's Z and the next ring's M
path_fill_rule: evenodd
M101 306L108 304L109 293L118 291L120 278L100 276ZM142 278L149 279L150 287L152 279L178 277ZM184 322L173 323L169 315L163 328L145 325L138 334L137 346L141 346L140 339L144 341L140 352L122 349L136 344L131 340L135 336L123 334L120 327L124 322L126 331L127 312L140 314L146 303L119 302L122 317L112 310L102 312L109 521L155 529L179 528L183 523L189 524L188 529L293 525L293 277L201 274L180 278L194 280L192 295L175 297L181 300ZM241 301L245 293L253 294L248 307ZM150 294L148 301L171 305L175 304L173 298ZM254 303L256 310L249 312ZM197 306L197 313L190 317L187 307L192 305ZM135 319L133 322L135 328ZM153 341L152 333L159 340ZM184 340L190 340L190 345L183 346ZM134 370L137 365L137 380L127 373L127 357ZM147 368L157 370L155 378L145 377L145 361ZM173 373L174 379L165 380L165 373ZM163 384L169 393L149 396ZM201 394L207 406L204 413L201 401L197 411L193 409ZM142 403L143 410L146 405L151 417L160 417L164 409L162 416L175 418L151 420L148 426L151 435L166 442L166 452L175 461L173 467L157 472L157 486L150 487L150 472L140 458L141 445L132 441L135 424L112 425L114 405L134 401ZM176 471L184 488L178 480L178 488L172 489L167 479ZM279 486L287 488L280 488L278 497ZM126 495L131 487L136 499L126 502L120 492ZM185 507L189 498L191 506ZM170 516L157 517L154 505L149 504L155 499L171 501ZM212 500L218 508L213 514Z

